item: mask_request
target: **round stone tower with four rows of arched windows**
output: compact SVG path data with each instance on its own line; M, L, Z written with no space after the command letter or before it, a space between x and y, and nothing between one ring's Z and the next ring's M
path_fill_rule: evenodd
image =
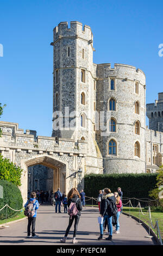
M96 131L105 173L146 170L146 77L134 66L97 65L97 111L104 113ZM102 117L102 115L101 115Z

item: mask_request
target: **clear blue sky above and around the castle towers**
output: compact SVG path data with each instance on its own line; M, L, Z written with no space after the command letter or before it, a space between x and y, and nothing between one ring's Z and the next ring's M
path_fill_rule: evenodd
M163 1L1 0L1 120L52 134L53 28L79 21L93 33L94 63L134 65L146 74L146 103L163 92ZM148 122L147 122L148 125Z

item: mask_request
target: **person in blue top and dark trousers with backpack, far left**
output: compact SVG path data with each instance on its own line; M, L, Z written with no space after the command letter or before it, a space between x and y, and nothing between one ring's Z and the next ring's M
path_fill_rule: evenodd
M39 202L36 200L36 193L31 192L30 198L27 200L27 203L24 205L24 208L28 205L29 202L33 202L33 209L35 211L33 217L28 217L28 226L27 226L27 237L36 238L38 235L35 234L35 223L36 223L36 215L37 215L37 209L39 208ZM30 227L32 225L32 235L30 234Z

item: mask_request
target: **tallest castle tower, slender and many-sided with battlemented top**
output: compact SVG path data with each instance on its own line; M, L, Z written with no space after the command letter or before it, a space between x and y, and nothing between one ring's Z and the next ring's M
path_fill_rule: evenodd
M68 28L67 22L60 22L53 32L52 136L87 140L89 133L95 137L91 28L77 21Z

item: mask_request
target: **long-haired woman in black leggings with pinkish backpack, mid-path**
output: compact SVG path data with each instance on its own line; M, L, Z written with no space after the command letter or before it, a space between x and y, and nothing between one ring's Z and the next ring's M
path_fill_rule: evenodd
M82 202L80 200L80 194L77 188L71 188L71 190L68 192L67 199L68 199L67 201L68 214L70 215L70 218L69 218L69 223L66 229L65 236L60 241L62 243L66 242L67 235L74 221L74 232L73 232L72 243L77 243L78 241L76 240L76 234L77 234L78 223L79 223L81 211L82 211Z

